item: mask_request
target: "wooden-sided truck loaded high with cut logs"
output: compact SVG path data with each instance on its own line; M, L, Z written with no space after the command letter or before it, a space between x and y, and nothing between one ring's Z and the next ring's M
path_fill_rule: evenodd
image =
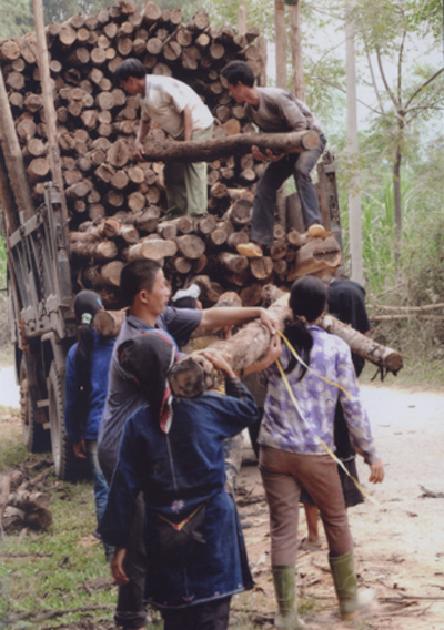
M329 153L317 164L315 184L329 236L306 235L292 194L279 204L270 252L258 258L238 253L238 245L250 240L254 186L264 169L251 148L301 152L319 143L312 130L255 133L244 108L230 98L220 77L232 60L246 61L264 83L258 38L255 29L244 34L215 29L205 13L183 23L180 10L161 11L147 2L138 11L132 0L120 0L63 24L43 28L36 18L36 33L0 42L0 194L23 439L30 450L51 443L62 479L72 472L63 424L64 364L77 335L72 303L79 291L100 294L107 311L97 325L115 334L120 272L134 258L161 261L173 291L198 284L206 307L225 292L235 292L244 306L260 304L265 285L272 302L296 277L330 274L342 264ZM192 87L214 116L213 138L178 142L154 128L145 160L137 161L138 100L113 83L128 57L140 59L149 73ZM163 167L170 160L208 162L205 216L165 220ZM283 323L289 312L282 299L271 308L281 309ZM354 352L392 372L401 368L397 353L369 339L356 349L360 341L351 329L340 333L332 322L325 317L325 326L345 335ZM266 344L266 332L250 324L216 347L241 369ZM186 360L174 370L174 388L195 394L214 375L205 362Z

